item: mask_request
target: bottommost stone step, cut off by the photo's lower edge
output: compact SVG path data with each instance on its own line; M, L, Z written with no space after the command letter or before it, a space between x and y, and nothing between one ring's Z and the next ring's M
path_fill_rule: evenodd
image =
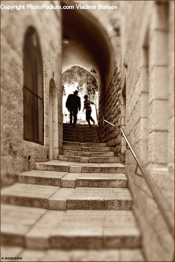
M1 256L22 257L22 261L145 261L139 248L132 249L46 249L36 250L1 245ZM6 260L10 261L10 260Z

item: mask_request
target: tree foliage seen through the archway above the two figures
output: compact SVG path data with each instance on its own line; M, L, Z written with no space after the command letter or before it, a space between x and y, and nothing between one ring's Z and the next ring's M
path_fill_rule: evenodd
M96 71L91 70L95 75ZM94 73L95 72L95 73ZM86 69L74 65L63 73L63 87L65 84L77 85L76 89L83 96L88 95L88 99L94 101L95 93L98 91L98 86L95 77ZM64 92L65 89L63 88Z

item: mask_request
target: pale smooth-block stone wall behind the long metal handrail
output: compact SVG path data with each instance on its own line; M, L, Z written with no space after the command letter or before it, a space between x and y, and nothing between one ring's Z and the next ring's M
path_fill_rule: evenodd
M170 2L123 3L121 86L126 86L126 133L173 212L174 67L168 57L174 57L174 3ZM144 178L135 175L135 167L134 157L127 150L126 175L146 260L171 261L172 237Z

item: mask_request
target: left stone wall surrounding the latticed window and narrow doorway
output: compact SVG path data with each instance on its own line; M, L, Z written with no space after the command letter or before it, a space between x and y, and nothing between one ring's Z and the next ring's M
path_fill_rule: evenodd
M57 2L57 1L56 1ZM16 1L1 1L15 5ZM28 1L32 3L33 1ZM24 1L18 1L24 4ZM40 1L35 1L35 5ZM45 1L50 5L51 1ZM56 3L57 4L57 3ZM1 186L15 175L49 160L49 84L53 78L58 98L58 148L62 148L61 24L59 10L1 10ZM54 26L53 26L54 25ZM44 146L23 140L23 41L33 26L38 35L44 74ZM54 72L54 77L53 77ZM31 154L31 161L27 155Z

